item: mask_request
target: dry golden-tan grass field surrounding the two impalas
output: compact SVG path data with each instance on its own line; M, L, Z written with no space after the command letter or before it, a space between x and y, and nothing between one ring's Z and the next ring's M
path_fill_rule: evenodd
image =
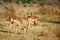
M60 22L60 8L58 6L33 4L24 7L23 5L13 3L11 8L10 10L9 7L8 9L3 6L0 7L0 40L59 40L60 24L56 23ZM30 11L32 15L38 17L37 26L31 24L29 31L25 35L23 34L24 31L16 26L16 23L13 24L10 30L8 27L9 22L7 21L10 15L20 17L24 25L27 26L27 12L30 15ZM12 33L8 33L10 31ZM16 31L18 32L16 33Z

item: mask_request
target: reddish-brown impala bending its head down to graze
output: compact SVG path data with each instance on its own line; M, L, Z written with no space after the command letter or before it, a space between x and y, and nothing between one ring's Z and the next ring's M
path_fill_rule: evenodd
M26 26L24 26L24 24L22 23L22 20L17 16L10 16L9 17L9 27L11 27L14 22L17 23L18 27L20 27L21 29L24 30L24 32L26 32Z

